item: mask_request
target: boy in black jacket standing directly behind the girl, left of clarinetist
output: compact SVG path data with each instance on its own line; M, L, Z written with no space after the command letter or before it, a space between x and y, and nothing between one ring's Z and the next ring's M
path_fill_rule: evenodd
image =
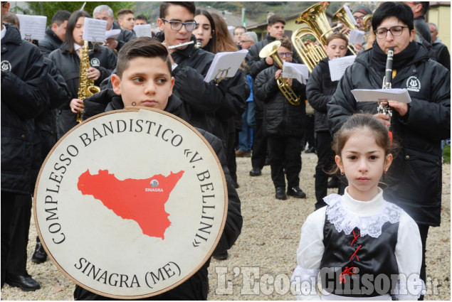
M325 51L328 57L320 60L315 66L306 85L306 96L309 104L315 109L315 133L317 145L317 166L315 166L315 210L327 205L323 198L327 195L328 174L335 163L335 153L331 149L332 135L328 129L327 102L335 94L337 83L331 81L329 60L342 58L347 53L348 39L342 33L332 33L327 38ZM333 176L333 178L336 176ZM343 194L344 183L339 182L339 194Z

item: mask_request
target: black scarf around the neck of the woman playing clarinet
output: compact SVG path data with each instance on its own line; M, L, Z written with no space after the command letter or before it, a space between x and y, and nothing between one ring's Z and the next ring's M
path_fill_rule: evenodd
M409 63L413 61L417 51L418 46L416 41L411 41L411 43L409 43L404 50L394 55L392 68L398 70L399 68L409 65ZM379 47L377 40L375 40L372 45L372 65L374 65L377 70L384 72L386 68L387 56L388 55Z

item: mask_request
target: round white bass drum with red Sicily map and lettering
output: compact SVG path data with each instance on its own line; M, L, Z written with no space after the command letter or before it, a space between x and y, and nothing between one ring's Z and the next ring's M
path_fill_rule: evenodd
M227 188L216 154L167 112L126 108L75 126L48 154L34 217L53 263L110 298L154 296L209 259Z

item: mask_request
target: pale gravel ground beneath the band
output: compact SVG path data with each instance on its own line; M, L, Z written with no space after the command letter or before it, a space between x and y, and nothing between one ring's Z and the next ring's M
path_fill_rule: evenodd
M300 187L307 199L275 200L270 167L251 177L250 158L237 158L238 195L242 203L243 229L225 261L212 259L209 267L209 300L294 300L290 276L296 266L295 252L300 228L314 210L315 154L302 154ZM427 239L426 300L451 300L451 166L443 165L441 227L432 227ZM337 189L329 189L335 193ZM336 191L337 192L337 191ZM32 218L28 259L33 254L36 229ZM74 284L52 261L33 264L28 273L41 289L26 293L5 284L1 300L73 300Z

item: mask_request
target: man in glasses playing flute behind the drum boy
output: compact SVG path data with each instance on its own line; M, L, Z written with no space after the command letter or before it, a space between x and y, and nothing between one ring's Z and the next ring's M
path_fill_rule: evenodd
M157 20L160 32L155 38L169 48L175 93L194 109L187 122L212 133L215 110L223 102L227 87L224 81L204 82L215 55L195 47L195 11L194 2L162 2ZM194 43L186 44L190 41Z

